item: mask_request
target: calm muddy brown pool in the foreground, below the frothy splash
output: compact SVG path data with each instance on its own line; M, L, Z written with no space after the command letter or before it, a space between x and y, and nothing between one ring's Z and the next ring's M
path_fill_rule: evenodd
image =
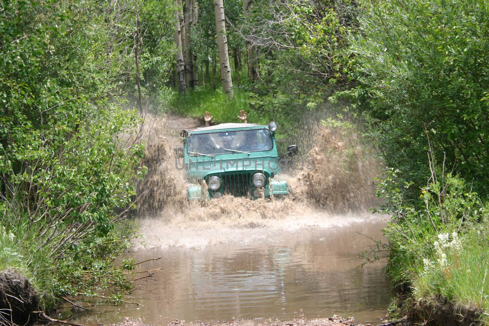
M165 243L128 253L125 257L136 261L161 257L139 266L163 269L150 282L136 284L133 296L143 306L92 301L89 312L73 316L65 309L58 317L71 315L72 321L86 325L143 317L146 325L167 325L172 319L189 323L258 318L263 322L338 314L379 324L391 298L383 263L359 268L363 259L357 255L374 245L365 236L381 239L385 221L372 217L334 220L327 228L312 222L294 231L241 229L250 236L266 233L251 243L243 241L244 236L197 248Z

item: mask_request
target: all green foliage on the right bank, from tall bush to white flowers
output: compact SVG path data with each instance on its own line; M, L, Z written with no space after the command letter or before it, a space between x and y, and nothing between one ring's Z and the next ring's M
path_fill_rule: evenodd
M358 85L332 97L351 101L390 167L378 180L387 276L414 302L485 314L488 13L482 0L363 1L348 40Z

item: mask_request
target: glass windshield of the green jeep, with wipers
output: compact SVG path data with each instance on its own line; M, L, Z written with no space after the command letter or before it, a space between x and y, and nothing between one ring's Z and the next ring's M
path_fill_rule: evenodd
M248 129L190 134L190 156L270 151L273 141L268 129Z

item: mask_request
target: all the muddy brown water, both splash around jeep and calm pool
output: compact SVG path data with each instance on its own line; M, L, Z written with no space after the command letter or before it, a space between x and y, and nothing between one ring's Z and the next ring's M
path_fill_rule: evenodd
M172 153L181 146L178 131L198 122L171 115L148 121L143 163L149 172L137 187L145 194L138 205L144 238L134 241L134 252L121 259L161 257L137 268L162 271L150 282L136 283L134 298L125 298L142 306L90 301L88 312L66 307L52 317L85 325L113 324L125 317L143 317L145 325L167 325L172 319L188 325L337 314L381 324L391 298L383 261L358 268L364 260L357 255L375 245L367 237L382 239L385 218L325 213L327 208L370 207L375 198L371 179L378 164L356 153L357 137L320 130L317 148L310 153L317 169L283 175L294 189L294 196L283 201L223 196L194 205L183 196L186 181L175 169Z

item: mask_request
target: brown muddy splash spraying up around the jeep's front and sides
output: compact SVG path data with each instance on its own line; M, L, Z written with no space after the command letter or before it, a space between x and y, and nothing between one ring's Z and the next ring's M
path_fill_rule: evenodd
M309 139L315 147L299 158L308 165L281 175L293 189L289 197L253 201L223 196L210 202L188 202L184 171L175 166L173 148L181 146L181 128L197 125L190 118L146 117L142 164L148 167L148 175L137 185L137 214L144 238L134 242L133 250L246 244L304 228L341 227L381 218L367 213L375 203L372 178L379 164L353 130L318 124L309 129L314 130Z

